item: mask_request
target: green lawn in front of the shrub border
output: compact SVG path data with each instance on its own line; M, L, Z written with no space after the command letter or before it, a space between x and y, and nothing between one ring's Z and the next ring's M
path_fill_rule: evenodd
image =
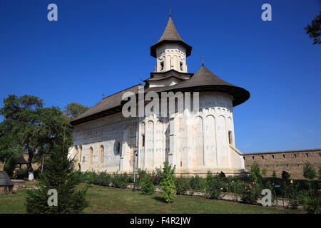
M85 185L81 185L85 186ZM0 214L25 213L24 197L27 190L13 195L0 195ZM85 213L302 213L297 210L253 206L203 197L177 196L166 204L161 194L141 195L141 192L113 187L93 186L88 188L89 207Z

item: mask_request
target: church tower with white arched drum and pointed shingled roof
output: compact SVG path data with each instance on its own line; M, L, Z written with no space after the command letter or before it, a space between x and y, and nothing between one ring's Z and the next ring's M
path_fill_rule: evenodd
M186 57L190 56L192 47L183 41L170 16L168 24L159 41L151 46L151 56L156 58L156 73L175 70L187 73Z

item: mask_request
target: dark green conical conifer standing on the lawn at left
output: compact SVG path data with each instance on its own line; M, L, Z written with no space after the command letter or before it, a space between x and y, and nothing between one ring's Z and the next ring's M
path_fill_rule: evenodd
M79 184L74 170L74 158L68 157L68 148L73 145L68 123L63 129L56 125L56 137L51 140L49 158L45 161L45 172L39 180L39 188L29 190L26 196L26 212L34 214L80 213L88 206L86 189L76 190ZM57 191L58 204L49 206L49 190Z

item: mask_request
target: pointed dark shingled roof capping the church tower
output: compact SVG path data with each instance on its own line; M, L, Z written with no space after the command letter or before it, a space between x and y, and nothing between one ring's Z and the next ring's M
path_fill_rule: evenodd
M190 53L192 52L192 47L185 43L178 34L171 16L168 19L168 23L165 31L163 32L163 35L156 44L151 46L151 56L156 58L156 48L162 46L165 43L179 43L181 46L186 48L186 57L190 56Z

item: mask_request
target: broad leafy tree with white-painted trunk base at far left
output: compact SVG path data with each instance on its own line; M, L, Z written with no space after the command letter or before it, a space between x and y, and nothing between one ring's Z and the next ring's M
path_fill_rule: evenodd
M8 95L0 115L4 116L0 123L0 159L27 152L29 180L34 180L32 161L50 152L66 116L59 108L44 108L43 101L33 95ZM71 127L66 130L71 132Z

